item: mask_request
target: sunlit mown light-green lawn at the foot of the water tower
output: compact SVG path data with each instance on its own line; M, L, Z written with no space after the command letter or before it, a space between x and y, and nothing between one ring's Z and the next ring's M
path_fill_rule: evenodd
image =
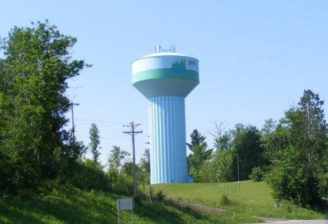
M151 186L153 192L163 190L166 197L182 202L202 204L231 211L235 216L265 216L287 219L324 219L324 214L298 207L290 202L278 203L271 196L271 189L264 182L240 181L231 183L171 183ZM221 205L226 195L231 204ZM288 209L289 208L289 209Z

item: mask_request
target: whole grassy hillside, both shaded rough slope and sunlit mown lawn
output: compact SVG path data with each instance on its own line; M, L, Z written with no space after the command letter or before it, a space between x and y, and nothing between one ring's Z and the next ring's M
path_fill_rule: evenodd
M322 219L323 214L282 202L275 208L270 189L264 182L192 183L151 186L153 195L163 190L166 197L182 202L226 209L224 214L202 214L173 202L135 202L135 223L257 223L252 216L292 219ZM231 204L222 205L226 195ZM36 195L20 191L17 197L0 198L0 223L116 223L116 200L126 196L76 188ZM153 198L154 199L154 198ZM121 223L130 223L123 211Z

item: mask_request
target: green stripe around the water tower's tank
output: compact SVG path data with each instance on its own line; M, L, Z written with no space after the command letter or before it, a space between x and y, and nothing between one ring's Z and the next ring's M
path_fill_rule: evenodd
M177 72L173 69L153 69L134 73L132 75L132 83L153 78L187 78L199 82L197 71L182 70Z

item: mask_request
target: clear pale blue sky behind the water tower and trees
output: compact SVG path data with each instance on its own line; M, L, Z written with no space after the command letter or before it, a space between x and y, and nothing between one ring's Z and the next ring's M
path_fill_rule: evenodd
M12 0L1 3L0 36L46 19L78 39L74 59L93 64L70 80L67 96L80 104L78 140L87 145L90 124L98 125L103 164L114 145L131 152L122 125L132 120L144 131L137 160L149 147L147 101L131 85L131 62L156 44L200 60L200 85L186 98L187 141L198 129L212 147L215 120L260 129L304 89L328 100L328 1Z

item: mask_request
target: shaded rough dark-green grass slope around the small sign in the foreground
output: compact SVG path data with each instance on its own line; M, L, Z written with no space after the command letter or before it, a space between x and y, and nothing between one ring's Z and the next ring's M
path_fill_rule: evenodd
M0 223L117 223L116 200L123 195L86 192L70 188L65 192L36 195L21 191L18 197L0 199ZM121 223L130 223L130 212L121 212ZM254 223L255 218L200 214L172 202L135 203L135 223Z

